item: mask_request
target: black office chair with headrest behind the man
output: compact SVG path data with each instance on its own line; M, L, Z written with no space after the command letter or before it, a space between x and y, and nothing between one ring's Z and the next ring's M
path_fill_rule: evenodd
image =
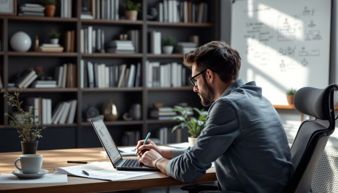
M304 121L297 132L291 147L291 161L295 168L284 193L309 193L311 181L317 164L324 152L329 136L335 131L334 92L338 85L332 84L325 89L304 87L294 97L295 108L301 113L314 117ZM216 191L217 186L184 186L181 190L189 193L230 193ZM212 188L207 191L206 189Z

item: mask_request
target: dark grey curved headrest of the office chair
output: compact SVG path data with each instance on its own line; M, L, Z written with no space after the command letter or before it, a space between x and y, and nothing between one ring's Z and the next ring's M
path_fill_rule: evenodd
M336 84L332 84L325 89L316 89L313 87L301 88L294 96L295 108L304 114L322 120L329 120L330 109L333 110L334 107L333 94L331 95L331 92L334 90L338 90Z

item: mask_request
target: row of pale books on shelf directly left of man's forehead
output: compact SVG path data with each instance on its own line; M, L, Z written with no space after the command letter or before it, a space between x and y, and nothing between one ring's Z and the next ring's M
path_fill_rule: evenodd
M186 68L177 62L161 64L159 61L146 61L147 87L186 86Z

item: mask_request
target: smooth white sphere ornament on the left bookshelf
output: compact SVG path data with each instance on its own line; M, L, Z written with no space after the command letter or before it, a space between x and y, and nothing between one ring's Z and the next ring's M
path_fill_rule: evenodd
M10 38L10 46L18 52L27 52L32 45L29 35L23 31L18 31Z

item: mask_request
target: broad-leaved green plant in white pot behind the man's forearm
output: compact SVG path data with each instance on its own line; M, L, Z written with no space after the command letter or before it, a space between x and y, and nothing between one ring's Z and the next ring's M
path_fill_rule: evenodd
M187 128L191 135L188 137L189 144L193 145L196 138L204 128L208 112L204 111L204 109L198 109L195 107L191 109L182 106L174 106L173 110L177 111L180 115L174 116L171 119L180 123L172 127L171 132L174 132L177 128ZM198 116L193 116L193 111L195 111Z

